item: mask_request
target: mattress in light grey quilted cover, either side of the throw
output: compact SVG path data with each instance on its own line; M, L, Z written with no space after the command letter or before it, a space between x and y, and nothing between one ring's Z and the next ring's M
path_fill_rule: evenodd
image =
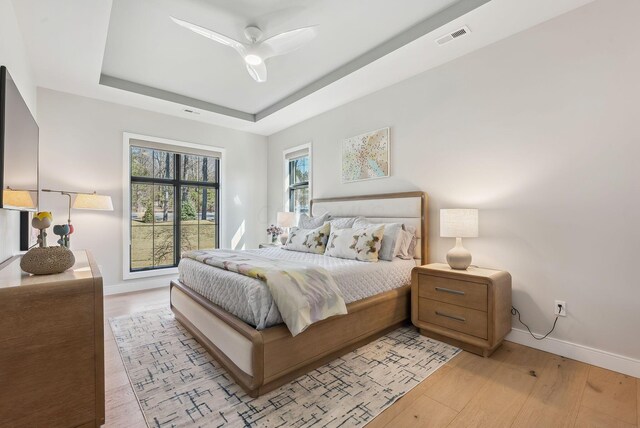
M331 273L346 303L356 302L411 283L415 260L376 263L338 259L270 247L247 250L261 256L314 263ZM267 285L255 278L184 258L180 282L258 330L280 324L282 317Z

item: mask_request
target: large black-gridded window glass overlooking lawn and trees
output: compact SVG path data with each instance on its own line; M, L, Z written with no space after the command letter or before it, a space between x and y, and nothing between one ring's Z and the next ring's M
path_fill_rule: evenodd
M184 251L217 248L219 157L130 142L129 272L173 268Z

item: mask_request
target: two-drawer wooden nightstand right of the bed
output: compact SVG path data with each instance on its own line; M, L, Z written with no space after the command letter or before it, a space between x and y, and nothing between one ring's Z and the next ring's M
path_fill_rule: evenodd
M488 357L511 331L511 275L444 263L416 267L411 321L425 336Z

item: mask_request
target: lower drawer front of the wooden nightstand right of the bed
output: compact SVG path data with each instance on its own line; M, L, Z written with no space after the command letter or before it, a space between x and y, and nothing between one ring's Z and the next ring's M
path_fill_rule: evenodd
M471 336L487 338L487 313L431 299L418 301L420 320Z

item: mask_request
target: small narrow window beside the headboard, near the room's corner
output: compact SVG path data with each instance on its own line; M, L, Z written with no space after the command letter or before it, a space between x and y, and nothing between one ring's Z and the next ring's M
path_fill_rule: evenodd
M286 179L288 181L288 211L309 213L311 200L311 156L309 145L285 152Z

